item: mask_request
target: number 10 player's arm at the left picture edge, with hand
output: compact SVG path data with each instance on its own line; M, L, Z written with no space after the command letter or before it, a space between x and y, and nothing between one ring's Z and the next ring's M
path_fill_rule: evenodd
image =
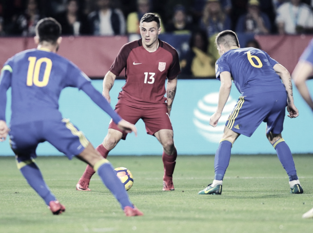
M0 75L0 142L7 139L9 128L6 123L7 90L11 86L12 68L5 65Z

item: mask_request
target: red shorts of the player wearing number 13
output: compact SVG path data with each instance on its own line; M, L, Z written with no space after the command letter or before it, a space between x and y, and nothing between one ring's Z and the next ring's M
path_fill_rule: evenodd
M150 135L153 135L155 132L158 132L161 129L173 130L166 104L153 104L147 107L134 107L127 104L118 103L115 105L115 111L119 113L121 118L132 124L136 124L139 119L142 119L145 123L146 131ZM119 129L112 120L109 124L109 129L116 129L120 132L123 132L122 139L126 139L127 133Z

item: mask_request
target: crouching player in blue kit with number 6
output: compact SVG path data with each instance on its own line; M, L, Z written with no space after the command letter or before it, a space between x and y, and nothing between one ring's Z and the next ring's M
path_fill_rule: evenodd
M242 94L229 115L223 138L217 149L215 177L199 194L221 194L222 183L230 160L232 144L240 134L250 137L261 122L266 122L266 137L276 149L278 158L289 176L291 193L302 193L294 159L282 138L285 109L289 118L299 115L292 96L289 72L264 51L255 48L240 48L236 33L220 32L216 45L221 57L216 62L216 77L221 81L219 102L210 118L216 127L227 102L231 81Z

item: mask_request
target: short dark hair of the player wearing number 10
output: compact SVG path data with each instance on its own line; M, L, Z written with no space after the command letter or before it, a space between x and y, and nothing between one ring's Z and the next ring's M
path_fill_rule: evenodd
M51 17L43 18L36 25L36 35L39 37L39 42L46 41L55 44L61 32L60 23Z

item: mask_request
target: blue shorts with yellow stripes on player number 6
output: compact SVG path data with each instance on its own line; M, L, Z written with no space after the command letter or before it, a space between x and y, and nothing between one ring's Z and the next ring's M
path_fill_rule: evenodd
M287 93L284 91L240 96L226 126L234 132L251 137L263 121L267 123L266 133L279 134L283 131L286 106Z

